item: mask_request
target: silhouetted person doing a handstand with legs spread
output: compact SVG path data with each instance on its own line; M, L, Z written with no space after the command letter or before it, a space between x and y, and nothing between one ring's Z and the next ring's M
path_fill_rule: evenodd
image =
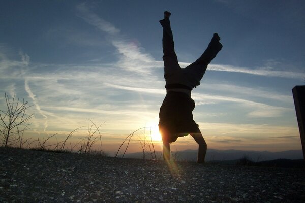
M198 143L198 163L204 162L206 143L199 130L198 124L193 120L192 111L195 108L191 91L200 85L200 80L205 73L207 65L221 50L220 37L214 33L204 53L194 63L182 69L174 50L173 34L170 27L169 16L165 11L164 19L160 20L163 27L163 61L164 78L166 81L166 96L159 113L159 130L163 141L163 158L170 160L170 143L178 137L191 136Z

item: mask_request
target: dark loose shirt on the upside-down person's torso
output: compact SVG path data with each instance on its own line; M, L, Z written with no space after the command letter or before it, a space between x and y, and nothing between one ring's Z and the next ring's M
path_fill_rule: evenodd
M194 100L182 92L168 92L159 113L159 130L170 143L178 137L198 132L198 124L193 120Z

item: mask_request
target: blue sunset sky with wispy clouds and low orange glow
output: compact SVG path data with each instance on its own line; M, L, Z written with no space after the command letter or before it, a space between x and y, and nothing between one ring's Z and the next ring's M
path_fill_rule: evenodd
M301 149L291 89L305 85L304 1L1 1L0 109L11 98L33 105L26 136L57 141L94 122L113 154L139 130L156 147L165 97L163 12L171 15L181 67L213 33L223 49L194 88L194 120L210 149ZM90 121L91 120L91 121ZM158 141L159 139L159 141ZM72 142L72 140L71 140ZM197 149L191 136L172 149Z

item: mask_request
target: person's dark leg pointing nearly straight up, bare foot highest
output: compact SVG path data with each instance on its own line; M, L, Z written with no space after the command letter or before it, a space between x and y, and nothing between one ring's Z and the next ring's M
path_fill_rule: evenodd
M173 72L176 69L179 69L177 55L174 49L174 40L173 33L170 27L169 21L170 13L164 12L164 19L160 20L160 24L163 27L163 36L162 36L162 47L163 47L163 61L164 61L164 76L166 78L167 73Z

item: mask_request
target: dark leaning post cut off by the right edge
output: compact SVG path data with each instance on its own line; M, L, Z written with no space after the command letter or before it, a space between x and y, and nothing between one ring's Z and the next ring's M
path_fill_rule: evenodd
M305 85L292 89L297 123L299 126L303 158L305 159Z

